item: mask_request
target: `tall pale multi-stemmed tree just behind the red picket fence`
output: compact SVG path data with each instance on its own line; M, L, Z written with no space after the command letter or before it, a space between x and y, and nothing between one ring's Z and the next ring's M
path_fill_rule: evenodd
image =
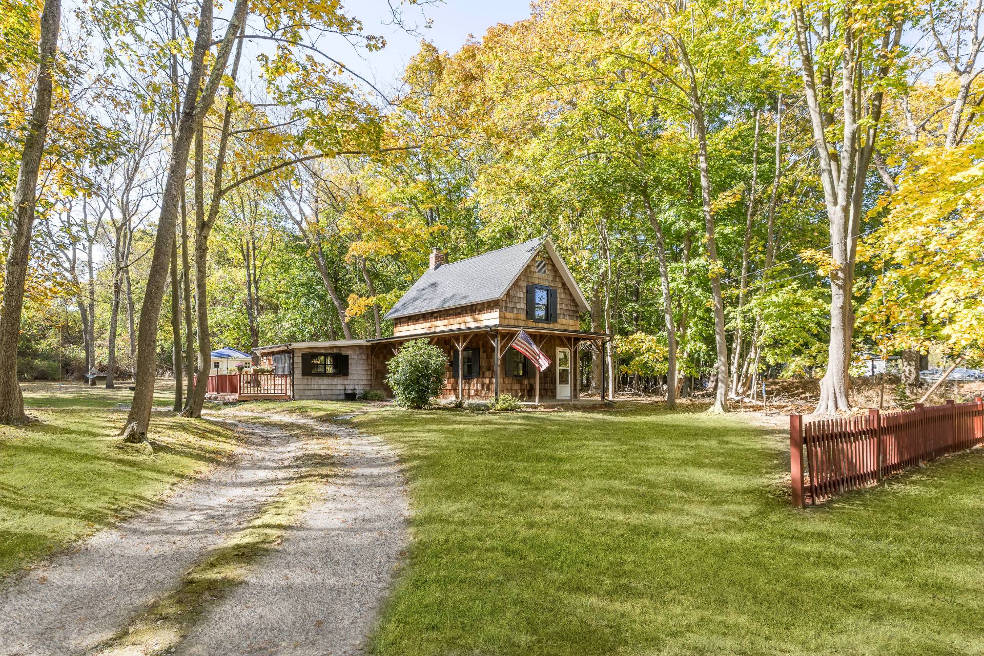
M830 224L830 343L816 411L833 413L850 407L862 203L907 13L894 2L838 0L797 2L791 14Z

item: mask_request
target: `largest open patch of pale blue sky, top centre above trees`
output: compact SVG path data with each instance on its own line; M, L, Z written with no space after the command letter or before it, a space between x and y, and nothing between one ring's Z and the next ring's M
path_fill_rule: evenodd
M386 25L392 23L386 0L348 2L345 3L348 13L362 21L367 33L384 36L387 45L378 52L356 53L350 47L347 52L338 52L340 61L382 89L396 87L406 63L419 50L421 40L454 53L469 34L481 38L498 23L515 23L529 16L529 0L445 0L426 5L422 15L412 6L399 5L398 0L393 0L393 4L401 7L407 27L417 28L416 35ZM433 22L430 28L423 27L424 17Z

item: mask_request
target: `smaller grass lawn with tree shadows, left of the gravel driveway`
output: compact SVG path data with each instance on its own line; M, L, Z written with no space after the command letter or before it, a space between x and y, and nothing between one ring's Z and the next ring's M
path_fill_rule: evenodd
M235 447L207 421L154 413L152 453L116 437L133 392L80 384L23 386L26 426L0 426L0 576L120 514L148 507L168 486L201 472ZM155 406L170 408L162 385ZM162 407L161 407L162 406Z

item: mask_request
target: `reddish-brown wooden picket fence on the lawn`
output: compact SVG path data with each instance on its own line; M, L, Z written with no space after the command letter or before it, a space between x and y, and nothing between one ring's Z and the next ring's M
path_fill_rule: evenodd
M789 416L793 503L816 506L847 490L875 485L923 460L984 444L984 402L803 423Z

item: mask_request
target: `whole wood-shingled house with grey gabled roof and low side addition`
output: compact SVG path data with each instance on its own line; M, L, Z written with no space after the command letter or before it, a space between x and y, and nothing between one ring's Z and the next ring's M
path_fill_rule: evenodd
M424 337L448 354L442 399L509 392L537 403L576 401L579 349L592 341L601 348L611 336L581 329L589 310L547 237L454 263L435 249L430 268L386 314L394 336L277 344L256 353L262 364L289 373L292 398L350 398L363 389L389 395L387 363L400 344ZM549 358L542 372L512 348L521 330Z

